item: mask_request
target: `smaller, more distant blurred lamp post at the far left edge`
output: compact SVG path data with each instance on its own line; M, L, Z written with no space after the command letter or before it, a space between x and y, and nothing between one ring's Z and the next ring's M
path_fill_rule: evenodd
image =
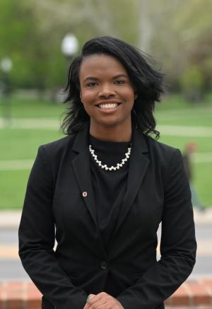
M3 118L6 124L11 120L11 101L9 100L11 95L11 79L9 73L13 68L13 62L11 58L4 57L0 62L1 71L3 72L3 95L4 95L4 105L3 105Z

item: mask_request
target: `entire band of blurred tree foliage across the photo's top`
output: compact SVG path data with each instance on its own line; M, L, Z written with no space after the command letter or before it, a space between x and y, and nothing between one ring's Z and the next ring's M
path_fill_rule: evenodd
M0 59L13 60L16 88L64 86L69 62L61 40L67 33L80 47L98 35L146 47L167 83L172 89L180 84L189 100L211 87L211 0L1 0L0 11Z

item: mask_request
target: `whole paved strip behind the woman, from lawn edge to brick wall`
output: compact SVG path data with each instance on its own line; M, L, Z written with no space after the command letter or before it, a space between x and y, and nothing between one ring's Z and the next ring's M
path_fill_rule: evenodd
M196 265L190 279L212 277L212 208L194 209L198 243ZM0 281L30 281L18 257L20 211L0 211ZM158 231L160 240L160 229ZM158 250L158 257L159 257Z

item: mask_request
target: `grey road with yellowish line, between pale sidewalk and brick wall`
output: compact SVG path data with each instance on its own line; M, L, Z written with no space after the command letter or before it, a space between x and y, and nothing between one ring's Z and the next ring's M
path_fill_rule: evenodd
M198 243L196 265L190 279L212 278L212 225L196 224L196 240ZM160 257L159 250L158 257ZM1 226L0 274L0 282L30 281L18 257L18 228L14 222L11 228Z

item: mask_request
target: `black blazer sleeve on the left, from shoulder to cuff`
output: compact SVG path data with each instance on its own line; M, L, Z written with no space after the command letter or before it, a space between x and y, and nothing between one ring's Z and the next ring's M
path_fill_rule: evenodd
M54 308L81 309L86 293L76 288L54 255L53 177L44 146L28 180L19 226L19 255L25 271Z

